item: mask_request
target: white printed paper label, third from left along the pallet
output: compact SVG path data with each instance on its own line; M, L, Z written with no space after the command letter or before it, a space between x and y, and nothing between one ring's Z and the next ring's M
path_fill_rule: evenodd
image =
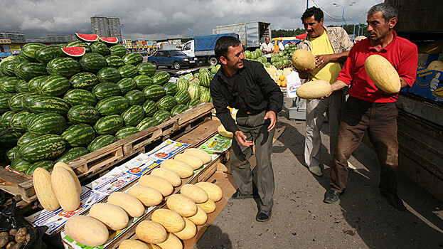
M161 164L161 161L163 160L149 157L147 154L139 154L137 157L134 157L130 161L127 161L118 168L128 174L143 176L149 170Z

